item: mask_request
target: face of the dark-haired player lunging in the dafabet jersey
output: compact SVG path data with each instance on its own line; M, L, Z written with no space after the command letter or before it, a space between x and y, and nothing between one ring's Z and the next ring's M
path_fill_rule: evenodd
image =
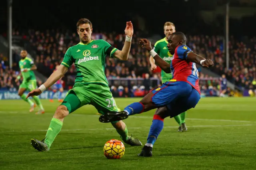
M80 25L77 33L82 43L88 43L91 41L92 28L90 27L90 24Z

